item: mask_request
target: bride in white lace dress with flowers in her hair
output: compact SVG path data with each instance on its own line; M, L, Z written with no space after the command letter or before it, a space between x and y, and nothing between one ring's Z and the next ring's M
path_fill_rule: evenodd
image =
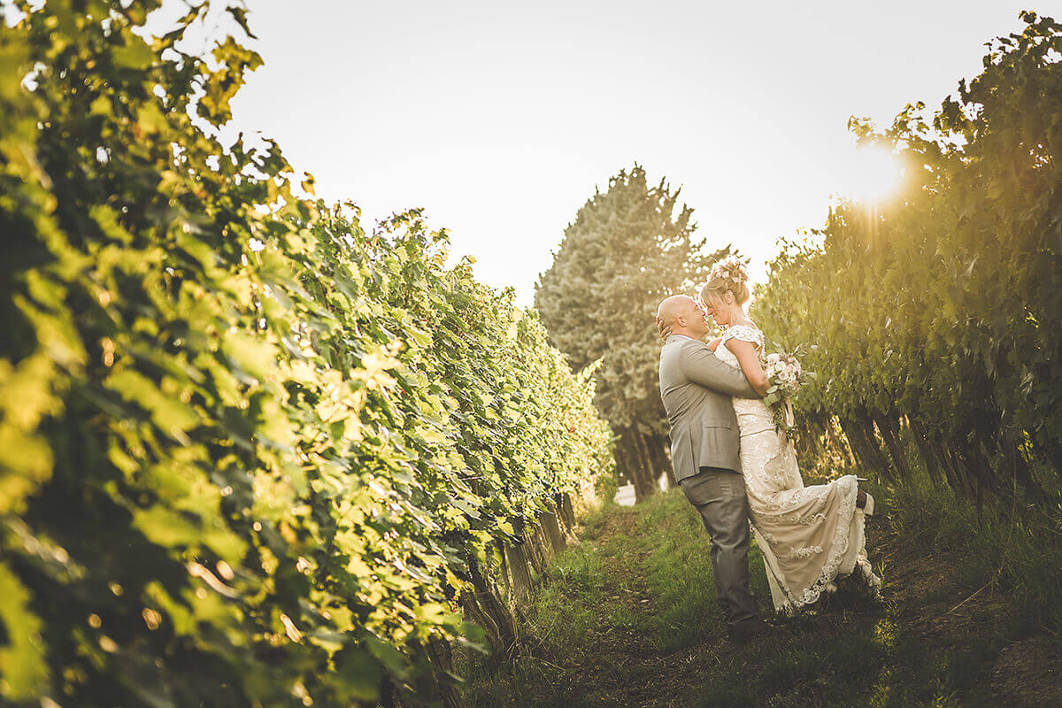
M701 303L723 335L709 346L739 367L764 396L764 333L742 306L749 300L744 264L730 256L716 263ZM774 609L791 614L836 590L834 580L858 572L875 592L881 581L867 559L863 522L874 499L846 474L829 484L804 486L792 443L778 432L758 399L734 399L741 435L741 473L749 495L753 534L764 554Z

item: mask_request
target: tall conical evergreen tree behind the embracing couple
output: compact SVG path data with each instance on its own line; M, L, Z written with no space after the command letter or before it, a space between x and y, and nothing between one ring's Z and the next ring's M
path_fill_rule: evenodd
M553 264L539 276L535 307L550 343L582 368L602 359L596 402L616 434L616 462L637 498L670 477L666 416L657 382L660 301L707 277L729 246L704 252L693 210L665 179L651 187L635 165L577 212Z

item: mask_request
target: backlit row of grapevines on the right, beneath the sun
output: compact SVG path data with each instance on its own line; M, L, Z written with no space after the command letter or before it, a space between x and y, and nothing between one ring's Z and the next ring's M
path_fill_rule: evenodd
M838 205L756 298L775 344L821 345L807 429L836 416L863 470L902 479L921 461L978 498L1054 495L1062 468L1062 24L1022 18L931 116L853 121L897 152L906 185L879 210Z

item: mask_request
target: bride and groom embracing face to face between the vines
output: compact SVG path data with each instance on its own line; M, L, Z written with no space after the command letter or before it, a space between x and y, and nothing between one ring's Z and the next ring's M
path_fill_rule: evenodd
M699 299L674 295L656 313L674 477L712 536L716 593L737 641L765 628L749 589L750 521L777 611L813 605L853 573L875 592L881 584L863 535L874 499L851 474L804 486L792 443L760 400L764 333L742 309L748 299L744 264L731 256L713 266ZM724 328L712 343L708 316Z

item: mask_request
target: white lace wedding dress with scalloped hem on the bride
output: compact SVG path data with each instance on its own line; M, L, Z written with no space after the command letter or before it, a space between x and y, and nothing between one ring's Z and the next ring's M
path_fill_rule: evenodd
M716 356L731 366L740 368L725 346L731 339L751 342L763 351L759 329L727 327ZM805 487L792 444L777 432L767 405L758 399L735 398L734 412L753 534L764 554L774 609L791 614L835 590L834 580L853 571L862 573L875 589L880 587L867 559L866 516L856 508L856 478L845 474L829 484Z

